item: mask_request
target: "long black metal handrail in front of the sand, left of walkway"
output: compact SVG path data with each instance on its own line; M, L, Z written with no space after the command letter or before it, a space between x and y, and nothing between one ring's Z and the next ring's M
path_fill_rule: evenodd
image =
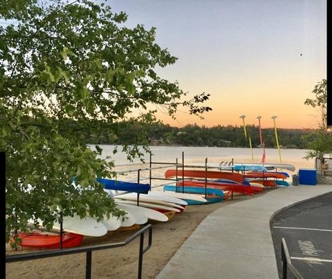
M149 229L149 243L148 243L147 247L145 247L143 249L144 233L145 233L145 231L147 231L147 229ZM93 246L87 246L87 247L59 249L56 251L43 251L43 252L37 252L37 253L10 255L10 256L6 256L6 263L20 262L22 260L36 260L36 259L40 259L40 258L50 258L50 257L70 255L70 254L75 254L75 253L86 253L85 278L91 279L92 251L123 247L123 246L127 245L129 242L131 242L132 240L134 240L135 238L137 238L138 235L140 235L140 249L139 249L139 258L138 258L138 279L141 279L142 278L143 254L151 247L151 244L152 244L152 226L151 226L151 224L147 224L147 226L143 227L136 233L133 233L133 235L129 236L129 238L127 238L123 242L102 244L102 245L93 245Z

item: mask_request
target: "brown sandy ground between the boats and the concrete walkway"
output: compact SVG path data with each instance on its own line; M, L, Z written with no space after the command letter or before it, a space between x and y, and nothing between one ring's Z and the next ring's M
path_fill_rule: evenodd
M255 195L259 196L260 194ZM234 195L233 200L187 206L183 213L176 214L168 222L152 223L152 245L143 256L142 278L155 278L207 215L223 206L255 197ZM82 246L122 242L135 231L138 229L109 232L100 238L84 237ZM145 246L147 235L145 233ZM139 238L136 238L125 247L93 251L92 278L137 278L138 243ZM6 254L35 251L36 249L24 249L15 252L6 248ZM85 278L85 262L86 253L12 262L6 264L6 278Z

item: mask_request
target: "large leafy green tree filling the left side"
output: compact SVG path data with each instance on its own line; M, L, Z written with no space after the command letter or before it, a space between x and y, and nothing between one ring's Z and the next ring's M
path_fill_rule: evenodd
M113 177L113 162L98 159L101 148L91 151L82 134L91 135L148 104L165 106L173 116L178 106L200 115L211 110L200 104L209 95L182 101L186 93L178 84L154 70L176 61L156 44L155 28L126 28L127 15L113 13L104 3L1 1L0 18L9 22L0 26L6 242L10 231L26 231L30 218L50 228L61 215L120 217L124 212L95 180ZM136 120L152 122L154 111ZM139 152L124 149L129 155ZM73 177L80 187L72 185Z

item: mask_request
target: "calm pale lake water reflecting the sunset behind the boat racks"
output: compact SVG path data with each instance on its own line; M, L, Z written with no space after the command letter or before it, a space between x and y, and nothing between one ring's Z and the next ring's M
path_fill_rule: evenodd
M94 149L94 145L90 145ZM139 164L140 160L136 159L133 162L127 160L127 155L122 153L121 146L118 146L118 153L113 155L113 149L116 146L113 145L100 145L103 149L102 157L111 156L111 160L116 164L114 171L122 172L133 169L144 169L149 167L149 154L145 151L144 159L146 164ZM150 146L152 156L152 162L167 162L182 163L182 153L184 153L185 164L205 164L205 158L208 158L208 163L220 163L220 162L252 162L250 148L226 148L226 147L199 147L199 146ZM261 148L252 148L255 162L261 162L263 151ZM305 160L303 157L306 155L306 150L303 149L281 149L282 163L293 164L295 166L295 172L288 171L291 175L297 173L299 169L313 169L314 160ZM266 148L266 163L277 163L279 162L279 153L276 148ZM131 164L131 166L119 166L123 164ZM135 165L132 165L135 164ZM154 166L160 166L159 164L153 164ZM166 169L172 169L174 166L169 166ZM166 169L156 169L151 173L152 177L163 177ZM140 182L148 183L149 171L140 172ZM118 175L119 180L137 182L138 172L127 173L125 175ZM165 184L165 181L152 180L152 186L158 186ZM159 188L158 188L159 189Z

